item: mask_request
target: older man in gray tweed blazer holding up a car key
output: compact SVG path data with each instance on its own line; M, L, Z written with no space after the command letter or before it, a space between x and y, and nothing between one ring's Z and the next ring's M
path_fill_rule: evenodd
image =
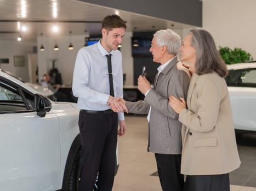
M178 114L168 104L168 96L186 99L190 82L190 73L178 61L177 53L181 40L170 29L157 31L151 41L150 52L153 61L160 63L157 68L153 88L145 76L139 76L138 89L145 99L138 102L126 102L128 111L134 114L148 114L149 142L147 151L155 153L157 171L164 191L181 191L184 177L180 174L181 163L181 123ZM114 104L111 109L122 112Z

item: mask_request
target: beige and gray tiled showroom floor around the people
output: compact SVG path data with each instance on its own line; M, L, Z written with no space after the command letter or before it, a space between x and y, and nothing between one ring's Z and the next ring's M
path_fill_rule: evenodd
M113 191L160 191L155 156L148 153L145 116L126 116L127 133L118 138L119 163ZM230 174L231 191L256 191L256 135L237 136L242 164Z

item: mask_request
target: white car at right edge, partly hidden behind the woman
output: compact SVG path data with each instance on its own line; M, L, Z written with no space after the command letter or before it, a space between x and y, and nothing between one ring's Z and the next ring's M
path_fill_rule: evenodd
M236 130L256 131L256 62L227 65L226 77Z

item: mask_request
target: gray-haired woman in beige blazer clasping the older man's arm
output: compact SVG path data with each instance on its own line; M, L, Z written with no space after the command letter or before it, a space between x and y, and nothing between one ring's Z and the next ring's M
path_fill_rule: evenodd
M203 29L191 30L180 52L181 62L189 63L190 71L194 72L187 99L172 94L169 97L169 105L183 123L184 191L230 190L229 172L237 169L241 162L224 79L226 64L219 56L212 35Z

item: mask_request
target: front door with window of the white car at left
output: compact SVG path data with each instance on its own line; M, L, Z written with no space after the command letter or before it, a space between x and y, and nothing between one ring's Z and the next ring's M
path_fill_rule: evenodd
M56 190L60 176L58 117L35 112L34 94L0 77L1 190Z

